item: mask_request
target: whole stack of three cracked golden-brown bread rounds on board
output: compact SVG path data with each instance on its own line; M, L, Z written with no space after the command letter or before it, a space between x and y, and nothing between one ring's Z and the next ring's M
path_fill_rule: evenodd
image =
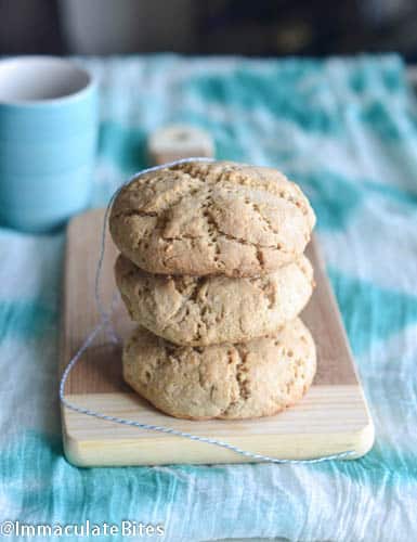
M250 418L298 402L316 367L298 318L314 286L314 212L275 169L188 162L140 176L109 227L116 281L138 327L126 382L192 420Z

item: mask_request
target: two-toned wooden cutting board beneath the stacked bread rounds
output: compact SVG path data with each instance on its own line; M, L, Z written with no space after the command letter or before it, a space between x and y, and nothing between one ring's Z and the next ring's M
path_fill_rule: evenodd
M62 369L78 350L99 317L94 276L104 211L88 211L67 229L62 319ZM96 339L71 372L66 397L71 402L108 415L165 425L182 431L225 440L242 449L277 459L309 459L354 451L365 454L374 442L374 426L357 379L352 354L324 264L313 240L308 248L316 288L302 319L317 346L318 371L300 404L276 416L250 421L193 422L155 410L123 383L120 347L105 336ZM102 297L108 305L115 292L116 248L107 234ZM114 317L121 338L132 328L121 301ZM156 465L174 463L242 463L244 456L212 444L118 425L62 409L65 454L82 466Z

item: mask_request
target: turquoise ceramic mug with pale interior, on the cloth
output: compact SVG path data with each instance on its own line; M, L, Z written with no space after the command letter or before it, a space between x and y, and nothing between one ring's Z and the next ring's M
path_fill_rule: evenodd
M86 208L97 90L70 61L0 61L0 225L45 232Z

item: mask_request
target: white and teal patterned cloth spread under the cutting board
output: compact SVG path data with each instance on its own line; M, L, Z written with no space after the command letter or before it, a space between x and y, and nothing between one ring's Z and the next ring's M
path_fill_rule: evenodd
M396 56L81 60L101 81L94 205L146 165L155 128L209 130L217 156L301 183L376 426L318 465L76 468L63 455L63 232L0 232L0 519L164 524L165 540L417 534L417 112ZM88 330L86 330L88 332Z

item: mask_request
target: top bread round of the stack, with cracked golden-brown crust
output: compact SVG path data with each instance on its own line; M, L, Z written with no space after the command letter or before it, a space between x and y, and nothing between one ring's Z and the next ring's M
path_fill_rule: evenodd
M275 169L190 162L123 186L109 229L149 273L255 276L296 260L314 223L299 186Z

